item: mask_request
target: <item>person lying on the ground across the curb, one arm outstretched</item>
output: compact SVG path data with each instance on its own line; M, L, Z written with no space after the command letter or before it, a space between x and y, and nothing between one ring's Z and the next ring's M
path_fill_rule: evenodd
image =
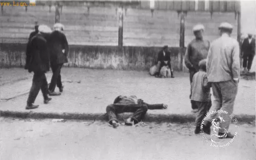
M166 104L148 104L141 99L137 99L136 96L118 96L114 100L114 104L107 106L106 111L109 119L109 124L113 128L118 127L118 120L116 114L124 112L132 112L133 114L126 119L125 125L132 125L133 123L139 123L148 109L166 109ZM133 123L132 123L133 122Z

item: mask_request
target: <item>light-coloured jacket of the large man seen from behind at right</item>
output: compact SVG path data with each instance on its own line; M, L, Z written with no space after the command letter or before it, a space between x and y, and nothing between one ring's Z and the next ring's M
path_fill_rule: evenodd
M239 74L239 50L238 42L225 34L212 42L207 62L207 76L209 82L232 80L234 76ZM239 63L234 65L234 62Z

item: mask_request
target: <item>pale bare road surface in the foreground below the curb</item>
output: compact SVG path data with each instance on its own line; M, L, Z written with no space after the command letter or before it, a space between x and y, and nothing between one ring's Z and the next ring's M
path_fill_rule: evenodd
M113 129L100 121L6 118L0 124L2 160L255 160L255 125L240 125L231 146L214 148L193 135L191 124Z

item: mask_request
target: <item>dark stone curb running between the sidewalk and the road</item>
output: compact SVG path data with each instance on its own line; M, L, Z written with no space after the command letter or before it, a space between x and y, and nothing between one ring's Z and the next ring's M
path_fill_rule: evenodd
M129 117L129 113L118 115L120 121ZM147 113L145 122L194 123L196 114L150 114ZM43 113L22 111L0 111L2 117L32 118L32 119L75 119L108 121L106 113ZM255 115L235 115L239 123L255 123Z

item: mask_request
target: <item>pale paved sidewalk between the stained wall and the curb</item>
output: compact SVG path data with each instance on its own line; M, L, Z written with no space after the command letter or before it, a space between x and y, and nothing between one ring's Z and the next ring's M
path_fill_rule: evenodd
M21 75L27 73L22 68L18 70ZM3 77L19 77L13 73L18 72L3 71ZM51 75L52 73L48 72L48 82ZM28 80L1 86L1 99L10 98L19 92L28 92L32 83L32 74L29 76ZM175 76L175 78L154 78L149 76L148 72L63 68L62 96L53 97L48 105L44 105L40 92L35 101L40 107L34 111L105 113L106 106L113 103L117 96L136 95L148 103L166 103L169 106L166 110L154 110L148 113L190 114L188 73L175 73ZM23 97L2 101L1 110L25 111L27 96L26 94ZM255 80L240 80L234 114L255 115Z

